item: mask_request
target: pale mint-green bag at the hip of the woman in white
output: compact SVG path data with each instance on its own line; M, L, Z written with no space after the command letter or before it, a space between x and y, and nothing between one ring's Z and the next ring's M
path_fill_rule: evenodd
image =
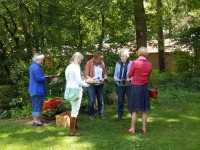
M67 87L65 89L64 99L68 101L77 101L80 97L80 88Z

